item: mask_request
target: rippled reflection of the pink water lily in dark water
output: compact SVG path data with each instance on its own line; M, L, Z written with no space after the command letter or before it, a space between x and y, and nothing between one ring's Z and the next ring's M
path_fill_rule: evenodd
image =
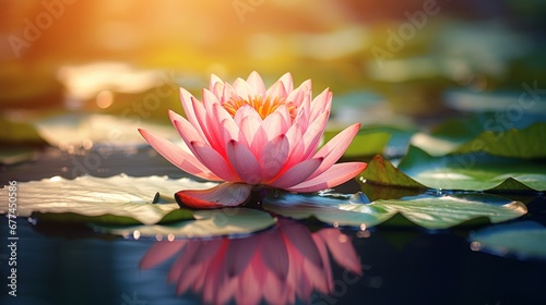
M333 291L329 253L347 271L361 274L347 235L334 228L311 233L280 219L274 229L245 239L156 242L140 263L149 269L178 255L168 273L177 294L193 291L206 303L271 304L309 300Z

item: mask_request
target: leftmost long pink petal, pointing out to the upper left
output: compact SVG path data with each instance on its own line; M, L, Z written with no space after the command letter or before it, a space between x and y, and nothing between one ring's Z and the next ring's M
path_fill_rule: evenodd
M222 181L212 173L195 156L180 148L178 145L157 137L145 130L139 130L144 139L165 159L182 171L211 181Z

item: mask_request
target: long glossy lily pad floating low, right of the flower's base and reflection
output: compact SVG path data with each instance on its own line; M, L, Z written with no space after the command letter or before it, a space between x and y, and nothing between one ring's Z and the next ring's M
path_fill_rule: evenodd
M401 199L376 200L367 204L361 193L353 196L310 196L298 194L276 194L264 200L264 208L272 212L295 219L314 217L334 225L370 228L392 219L400 222L401 215L414 224L426 229L447 229L467 223L471 220L487 219L501 222L527 212L520 202L487 194L458 194L432 196L422 195ZM476 224L475 222L473 224Z

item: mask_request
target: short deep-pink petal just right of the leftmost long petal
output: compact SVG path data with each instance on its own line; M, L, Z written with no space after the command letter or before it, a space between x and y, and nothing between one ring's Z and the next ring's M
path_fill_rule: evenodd
M229 182L239 182L240 179L233 171L232 167L226 162L224 157L218 151L214 150L209 145L201 142L192 142L190 146L193 148L195 157L214 174Z

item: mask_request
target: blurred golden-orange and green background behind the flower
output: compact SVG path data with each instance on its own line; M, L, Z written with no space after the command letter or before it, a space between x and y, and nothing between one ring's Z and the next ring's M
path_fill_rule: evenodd
M546 4L505 1L1 1L0 142L40 142L63 114L166 123L197 96L285 72L334 93L332 124L410 129L499 111L545 87ZM507 101L508 99L508 101ZM544 108L544 107L543 107ZM526 111L544 111L533 106ZM82 143L82 146L92 143Z

